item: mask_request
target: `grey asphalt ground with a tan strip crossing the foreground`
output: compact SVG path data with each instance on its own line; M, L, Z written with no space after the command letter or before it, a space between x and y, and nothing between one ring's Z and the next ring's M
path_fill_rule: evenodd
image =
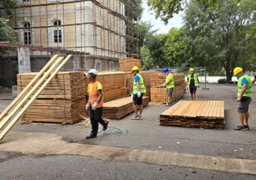
M196 100L224 101L224 130L160 126L157 118L169 107L153 103L144 107L143 120L131 120L133 114L130 114L109 123L110 130L119 128L127 133L99 132L91 140L85 139L90 128L79 124L17 122L0 144L0 176L3 179L256 179L255 173L243 168L256 159L254 101L249 108L251 130L234 131L239 124L237 86L207 84L206 87L209 89L198 89ZM11 102L9 99L10 93L0 94L0 111ZM185 93L182 100L189 99L189 93ZM60 145L60 141L66 145ZM71 146L79 153L69 151ZM90 154L87 150L91 148ZM107 148L110 154L101 151ZM134 150L133 155L126 152ZM155 159L154 153L159 154ZM124 159L126 155L128 159ZM216 168L211 168L210 163L200 166L204 164L200 161L204 156L213 159L210 162L216 161ZM240 163L230 163L235 165L231 170L220 165L231 160ZM256 172L255 166L251 167L253 170Z

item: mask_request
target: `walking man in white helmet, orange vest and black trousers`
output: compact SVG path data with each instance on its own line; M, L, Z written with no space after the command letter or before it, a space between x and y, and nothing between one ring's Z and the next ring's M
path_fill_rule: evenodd
M103 131L108 128L108 121L104 121L101 117L102 109L103 109L103 86L99 81L95 78L97 76L97 71L95 69L91 69L88 74L88 94L89 100L86 104L86 110L89 109L89 116L91 120L91 134L86 136L87 139L97 138L97 132L99 129L99 124L103 126ZM99 123L99 124L98 124Z

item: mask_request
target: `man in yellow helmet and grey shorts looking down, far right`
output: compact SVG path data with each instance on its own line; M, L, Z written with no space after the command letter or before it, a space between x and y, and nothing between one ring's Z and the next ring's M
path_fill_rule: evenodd
M238 79L238 92L237 92L237 111L239 112L240 124L234 130L249 130L249 104L251 103L252 95L252 81L248 75L243 73L241 67L234 69L234 76Z

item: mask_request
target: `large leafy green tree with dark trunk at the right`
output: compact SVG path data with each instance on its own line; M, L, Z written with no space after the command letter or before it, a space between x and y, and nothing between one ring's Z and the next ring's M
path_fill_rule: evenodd
M185 10L185 40L190 62L226 71L232 79L232 70L245 62L242 54L249 49L249 36L255 27L256 2L245 0L218 0L214 10L197 0L189 1Z

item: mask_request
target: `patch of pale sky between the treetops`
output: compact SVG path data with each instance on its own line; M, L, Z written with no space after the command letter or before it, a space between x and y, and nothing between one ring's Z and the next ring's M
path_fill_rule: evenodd
M152 30L157 30L157 34L167 34L171 28L181 28L182 26L182 17L181 14L173 15L173 18L169 20L169 24L165 26L161 19L155 19L155 15L153 11L148 11L148 5L146 5L146 0L143 1L142 7L144 7L144 11L142 14L142 21L151 21L151 25L154 25Z

